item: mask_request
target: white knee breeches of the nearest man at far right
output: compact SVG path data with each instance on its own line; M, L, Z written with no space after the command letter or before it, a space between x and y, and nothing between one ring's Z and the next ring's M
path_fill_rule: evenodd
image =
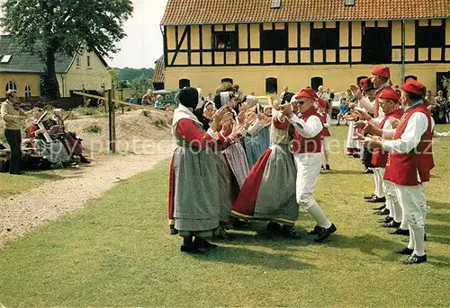
M394 185L406 224L413 230L424 228L428 211L424 186Z

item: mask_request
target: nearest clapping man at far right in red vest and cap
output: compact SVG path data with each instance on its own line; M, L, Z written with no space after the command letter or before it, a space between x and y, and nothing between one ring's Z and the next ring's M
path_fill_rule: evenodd
M425 254L425 217L427 201L424 183L434 168L432 137L434 121L424 102L425 85L410 78L401 87L404 114L395 130L380 132L373 126L369 130L383 139L365 138L373 148L389 152L384 179L394 183L403 215L409 224L410 242L401 254L410 255L404 263L427 261Z

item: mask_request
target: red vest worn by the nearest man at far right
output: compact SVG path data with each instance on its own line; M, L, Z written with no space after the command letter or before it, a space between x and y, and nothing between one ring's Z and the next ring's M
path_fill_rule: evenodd
M431 138L433 137L431 113L427 110L425 103L419 104L403 115L401 123L395 131L394 139L401 138L410 117L416 112L424 113L428 119L427 131L420 138L419 145L408 154L389 153L386 163L384 179L399 185L419 185L421 182L428 181L429 172L435 166L431 148Z

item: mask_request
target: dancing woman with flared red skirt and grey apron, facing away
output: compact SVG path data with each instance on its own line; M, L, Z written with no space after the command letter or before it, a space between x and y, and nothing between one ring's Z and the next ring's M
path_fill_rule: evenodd
M299 238L300 234L293 228L299 216L295 198L296 169L289 147L293 129L280 112L272 119L271 139L270 148L248 173L231 215L242 219L268 220L268 231Z

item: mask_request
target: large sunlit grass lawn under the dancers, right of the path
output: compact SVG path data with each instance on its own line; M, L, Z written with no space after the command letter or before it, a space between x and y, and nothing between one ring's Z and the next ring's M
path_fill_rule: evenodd
M342 143L347 128L331 134ZM376 223L362 199L372 175L343 149L315 194L338 226L326 244L269 238L254 224L207 255L181 253L181 239L167 232L165 162L0 250L0 306L448 307L449 149L450 138L436 139L428 263L401 264L393 251L404 237ZM302 212L297 227L313 226Z

